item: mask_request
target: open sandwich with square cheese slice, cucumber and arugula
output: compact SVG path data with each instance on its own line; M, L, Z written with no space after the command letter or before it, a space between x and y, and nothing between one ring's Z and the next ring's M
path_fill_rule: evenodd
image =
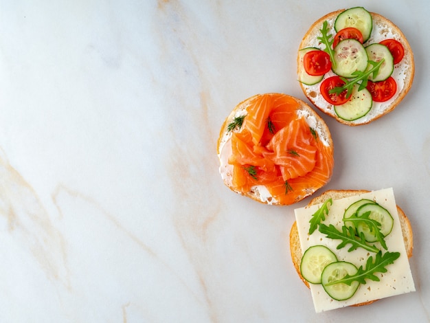
M328 190L295 219L291 258L317 313L415 291L412 228L392 188Z

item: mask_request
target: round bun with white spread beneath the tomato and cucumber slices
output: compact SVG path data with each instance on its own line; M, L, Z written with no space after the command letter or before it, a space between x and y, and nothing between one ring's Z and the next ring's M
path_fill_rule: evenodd
M332 36L335 36L335 28L333 27L337 16L343 12L343 10L337 10L335 12L331 12L321 17L313 25L310 27L308 32L304 35L302 43L299 45L299 50L304 49L306 47L317 47L319 49L324 49L326 46L321 44L317 39L318 36L321 36L321 28L324 21L328 22L328 28L331 31ZM370 45L372 43L379 43L384 39L394 38L399 41L403 48L405 49L405 56L400 63L394 65L394 71L392 77L396 80L397 83L397 91L394 94L393 98L387 100L386 102L373 102L372 109L369 113L364 115L362 118L357 120L347 121L339 118L339 116L335 113L335 109L332 104L329 104L324 100L319 91L320 82L316 85L305 85L302 82L299 82L304 95L312 102L315 107L317 107L322 112L330 115L332 118L335 118L337 121L342 124L347 124L348 126L358 126L361 124L368 124L378 118L381 118L383 115L386 115L390 111L393 111L394 108L405 98L407 92L411 88L412 81L414 80L414 54L412 52L411 46L407 42L407 39L403 32L389 21L389 19L381 16L381 14L376 14L374 12L370 12L373 19L373 28L372 33L370 34L370 38L363 44L364 46ZM297 56L297 75L300 75L304 70L303 60L300 59L300 56ZM335 75L332 71L329 71L324 78L328 78L330 76Z

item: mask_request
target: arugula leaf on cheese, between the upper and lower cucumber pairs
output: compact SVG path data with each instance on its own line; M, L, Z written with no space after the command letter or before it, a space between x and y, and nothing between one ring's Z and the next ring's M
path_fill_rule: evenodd
M341 240L342 242L337 245L337 249L341 249L350 244L351 247L348 249L348 252L352 252L352 250L357 249L358 247L370 252L379 251L375 245L369 245L366 243L363 233L361 233L360 236L356 236L353 227L343 226L342 231L339 231L335 225L330 224L327 226L324 223L321 223L319 225L319 232L326 234L327 238Z

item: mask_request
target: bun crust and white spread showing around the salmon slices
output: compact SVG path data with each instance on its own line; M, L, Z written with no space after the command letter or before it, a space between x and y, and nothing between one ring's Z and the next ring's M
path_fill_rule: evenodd
M328 146L331 148L331 155L333 156L333 141L332 141L332 137L331 137L330 131L328 129L328 126L327 126L326 122L324 122L324 120L306 102L304 102L303 100L300 100L299 98L295 98L293 96L289 96L288 94L284 94L284 93L266 93L266 94L256 94L255 96L251 96L250 98L247 98L246 100L243 100L242 102L237 104L236 107L234 107L234 109L231 111L229 116L223 122L223 125L221 126L221 129L220 129L220 135L218 137L218 142L216 145L217 146L216 151L218 153L218 158L220 159L221 165L223 164L223 161L222 161L222 159L223 159L223 147L224 147L225 142L229 138L229 133L227 131L227 127L228 127L229 123L235 118L238 111L246 109L247 104L249 102L251 102L251 100L257 98L258 96L272 95L272 94L273 95L282 94L283 96L286 96L288 98L292 98L293 100L295 100L299 104L299 110L306 111L306 113L308 113L308 115L315 118L317 131L319 131L319 134L322 135L324 137L324 140L328 143ZM230 190L232 190L238 194L242 194L245 197L249 197L250 199L253 199L254 201L258 201L260 203L271 204L271 205L281 205L281 203L279 203L278 201L275 201L275 199L272 199L271 197L269 197L269 198L264 197L262 194L260 194L258 189L251 190L251 191L246 192L246 193L235 190L235 188L233 187L233 185L231 183L231 177L232 177L232 175L227 173L227 177L223 178L225 186L227 186ZM331 177L331 175L330 175L330 177ZM297 200L294 203L297 203L298 201L302 201L302 199L310 196L311 194L313 194L316 190L318 190L321 187L322 186L308 187L306 189L306 191L301 192L302 194L297 198Z

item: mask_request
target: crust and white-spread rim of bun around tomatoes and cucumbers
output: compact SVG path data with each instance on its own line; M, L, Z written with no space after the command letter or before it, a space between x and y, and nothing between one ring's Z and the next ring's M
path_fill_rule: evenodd
M299 45L299 49L303 49L305 47L315 47L315 40L317 39L317 36L320 35L319 30L321 29L324 21L331 21L334 23L336 17L341 13L345 11L345 9L337 10L335 12L330 12L326 14L325 16L322 16L320 19L315 21L313 25L310 26L308 32L304 35L302 42ZM403 48L405 49L405 56L403 60L398 63L398 65L395 66L395 69L401 68L402 66L405 67L405 76L404 76L404 82L403 87L396 93L394 99L388 100L387 102L381 102L380 109L378 109L377 112L374 114L367 115L367 117L360 118L358 120L343 120L337 116L335 113L335 109L330 106L330 104L323 102L324 99L321 99L321 94L319 91L315 91L315 87L310 87L307 85L304 85L302 82L299 82L300 87L302 87L302 91L306 98L312 102L315 107L317 107L320 111L326 113L327 115L330 115L332 118L335 118L338 122L342 124L347 124L348 126L359 126L362 124L368 124L370 122L373 122L374 120L377 120L381 118L383 115L386 115L387 113L393 111L398 104L405 98L406 94L409 92L409 89L411 89L412 82L414 80L414 74L415 74L415 63L414 63L414 54L412 52L411 46L409 45L407 38L403 34L403 32L400 30L400 28L397 27L392 21L385 18L385 16L382 16L381 14L377 14L374 12L370 12L372 15L372 19L374 21L374 25L383 25L385 26L385 33L388 34L388 32L392 32L394 34L393 37L389 38L395 38L397 41L400 41L400 43L403 45ZM383 30L382 30L383 31ZM333 35L334 36L334 35ZM367 43L372 43L372 38L374 36L374 31L372 31L372 34L370 36L370 39L367 41ZM366 44L366 43L365 43ZM324 49L324 45L321 47L321 49ZM297 74L303 69L300 62L299 55L297 55ZM400 70L399 70L400 71ZM331 75L331 74L330 74ZM332 74L334 75L334 74ZM403 77L403 76L402 76ZM379 103L375 103L379 104ZM374 109L374 107L372 107Z

